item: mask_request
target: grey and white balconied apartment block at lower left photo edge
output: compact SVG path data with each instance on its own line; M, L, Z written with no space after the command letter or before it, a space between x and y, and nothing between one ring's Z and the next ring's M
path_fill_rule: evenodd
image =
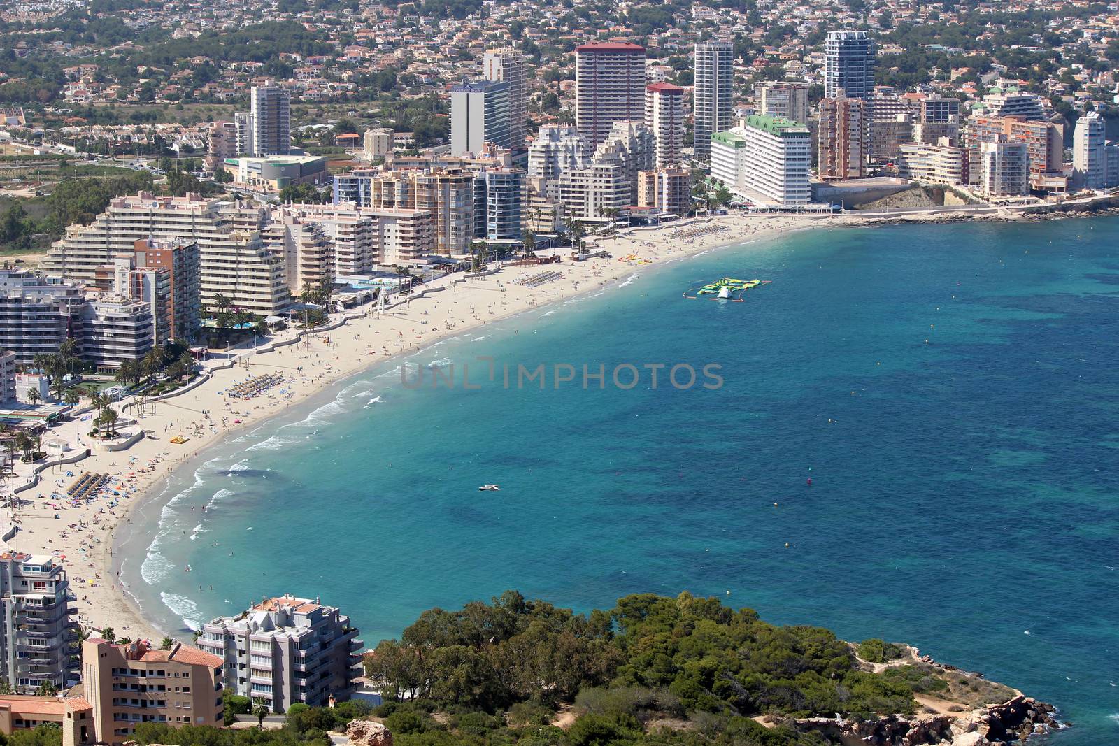
M57 558L0 554L0 681L17 692L76 683L78 625L69 593Z

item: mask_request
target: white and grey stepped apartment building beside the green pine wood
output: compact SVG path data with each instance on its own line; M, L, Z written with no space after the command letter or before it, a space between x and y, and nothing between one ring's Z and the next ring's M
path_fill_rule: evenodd
M285 712L350 698L363 674L357 634L337 608L285 595L203 625L198 646L225 662L226 688Z

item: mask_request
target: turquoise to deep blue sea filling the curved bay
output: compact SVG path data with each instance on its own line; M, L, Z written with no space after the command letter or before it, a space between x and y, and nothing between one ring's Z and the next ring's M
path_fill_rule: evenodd
M681 298L721 275L772 284ZM620 284L422 351L422 389L382 363L204 453L117 551L144 613L291 592L372 646L507 588L688 589L916 644L1056 703L1053 744L1119 743L1119 219L812 230ZM518 389L518 363L576 379ZM652 363L724 384L653 389Z

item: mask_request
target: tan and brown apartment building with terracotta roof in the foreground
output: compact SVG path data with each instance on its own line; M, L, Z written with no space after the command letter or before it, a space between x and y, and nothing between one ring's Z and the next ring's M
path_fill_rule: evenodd
M93 707L97 743L134 740L141 723L171 727L220 727L224 659L176 642L156 650L148 642L117 645L91 638L82 643L82 684Z

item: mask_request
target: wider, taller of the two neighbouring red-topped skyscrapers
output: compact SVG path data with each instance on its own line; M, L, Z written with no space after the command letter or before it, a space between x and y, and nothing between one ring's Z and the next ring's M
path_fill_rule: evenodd
M614 122L645 121L645 47L628 41L575 48L575 128L590 149Z

